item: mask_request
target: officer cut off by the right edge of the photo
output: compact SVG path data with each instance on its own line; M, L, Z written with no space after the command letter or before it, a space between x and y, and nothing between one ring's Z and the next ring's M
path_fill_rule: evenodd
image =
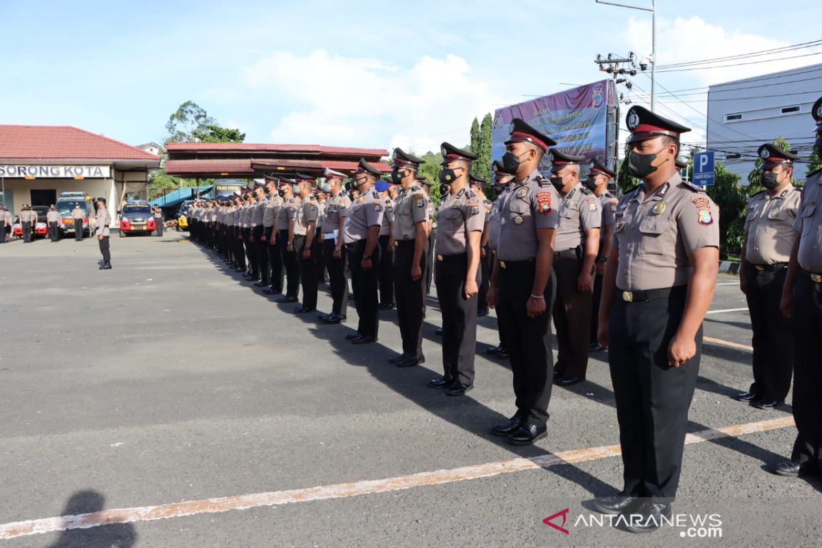
M822 157L822 97L811 109L814 150ZM822 169L808 173L797 211L797 238L779 303L793 327L793 418L797 440L790 460L771 470L786 477L822 474Z

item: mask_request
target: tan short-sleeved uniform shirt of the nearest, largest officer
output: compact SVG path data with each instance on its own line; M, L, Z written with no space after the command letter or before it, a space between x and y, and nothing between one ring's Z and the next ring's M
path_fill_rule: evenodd
M617 288L672 288L690 280L689 256L719 246L719 210L704 191L675 173L651 196L644 185L622 196L613 246L619 253Z

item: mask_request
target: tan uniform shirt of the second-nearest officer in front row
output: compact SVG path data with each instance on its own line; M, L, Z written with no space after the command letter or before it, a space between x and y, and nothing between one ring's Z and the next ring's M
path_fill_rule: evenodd
M500 195L500 240L496 253L500 260L531 260L537 257L540 228L559 224L560 197L556 188L534 169L523 182L506 185Z

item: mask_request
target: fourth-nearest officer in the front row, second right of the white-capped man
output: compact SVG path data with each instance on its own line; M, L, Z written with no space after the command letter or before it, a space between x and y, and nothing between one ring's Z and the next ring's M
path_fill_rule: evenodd
M428 251L428 196L415 179L423 159L402 149L394 150L391 180L399 185L395 203L394 290L397 323L403 351L389 359L399 367L425 361L423 355L423 310Z

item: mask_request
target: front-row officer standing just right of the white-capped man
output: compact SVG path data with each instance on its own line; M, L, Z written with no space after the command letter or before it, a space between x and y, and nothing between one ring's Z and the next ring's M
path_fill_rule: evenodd
M353 173L353 186L360 192L354 200L343 225L343 241L348 247L351 283L356 293L355 303L359 323L357 333L346 335L353 344L375 343L380 325L380 309L376 298L380 264L380 227L385 207L374 183L381 173L360 159Z

